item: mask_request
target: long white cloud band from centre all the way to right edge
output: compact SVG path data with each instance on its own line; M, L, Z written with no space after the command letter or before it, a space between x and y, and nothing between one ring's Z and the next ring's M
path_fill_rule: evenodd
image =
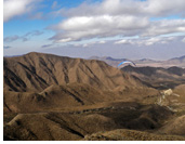
M149 22L146 17L129 15L80 16L63 21L51 29L57 31L51 39L61 42L115 36L157 37L185 32L185 19Z

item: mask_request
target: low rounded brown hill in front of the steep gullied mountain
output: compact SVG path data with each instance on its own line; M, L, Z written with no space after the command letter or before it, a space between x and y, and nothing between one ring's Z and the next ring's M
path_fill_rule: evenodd
M91 105L119 97L116 93L103 93L93 87L80 83L51 86L40 93L4 91L4 113L54 110L65 107Z

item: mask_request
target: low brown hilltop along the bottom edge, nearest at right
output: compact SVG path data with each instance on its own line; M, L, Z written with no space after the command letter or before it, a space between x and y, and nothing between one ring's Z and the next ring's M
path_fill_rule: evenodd
M143 131L118 129L87 135L83 141L185 141L185 138L179 135L161 135Z

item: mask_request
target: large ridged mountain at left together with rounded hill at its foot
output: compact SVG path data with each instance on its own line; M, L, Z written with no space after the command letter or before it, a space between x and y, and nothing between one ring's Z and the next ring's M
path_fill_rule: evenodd
M41 53L4 58L4 113L137 101L154 93L137 78L101 61Z

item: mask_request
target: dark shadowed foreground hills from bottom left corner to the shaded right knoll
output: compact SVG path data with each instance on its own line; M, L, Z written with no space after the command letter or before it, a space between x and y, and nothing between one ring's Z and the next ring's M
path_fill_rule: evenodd
M137 103L119 103L82 112L17 114L4 126L4 139L81 140L87 134L116 129L151 131L173 117L167 107ZM142 140L142 135L137 140Z

